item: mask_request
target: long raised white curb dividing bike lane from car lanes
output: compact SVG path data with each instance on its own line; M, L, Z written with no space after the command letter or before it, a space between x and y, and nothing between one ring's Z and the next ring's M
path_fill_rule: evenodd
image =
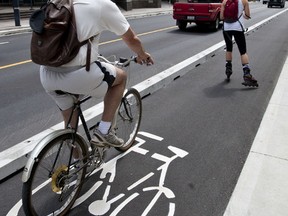
M288 8L286 10L283 10L253 25L252 27L249 28L249 31L247 33L259 28L260 26L265 24L265 22L268 22L274 17L286 12L287 10ZM169 83L171 83L176 77L182 76L185 73L187 73L187 71L182 70L185 67L196 66L198 64L204 63L208 58L213 57L217 51L223 49L224 46L225 46L224 41L221 41L209 47L208 49L174 65L173 67L168 68L167 70L164 70L160 72L159 74L156 74L155 76L152 76L144 80L143 82L133 87L136 88L140 92L141 96L152 94L155 91L161 89L163 86L166 86ZM102 110L103 110L103 103L100 103L100 104L95 105L94 107L91 107L87 111L85 111L84 116L85 118L87 116L87 121L93 117L99 118L99 115L102 113ZM21 169L27 161L27 158L25 157L25 155L29 154L34 149L34 147L39 142L39 140L43 138L44 136L46 136L47 134L51 133L52 131L58 130L60 128L63 128L62 122L1 152L0 153L0 170L1 170L0 180L9 176L15 171Z

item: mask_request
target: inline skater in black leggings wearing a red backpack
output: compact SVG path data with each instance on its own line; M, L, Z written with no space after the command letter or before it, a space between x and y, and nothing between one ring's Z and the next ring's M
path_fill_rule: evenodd
M228 22L224 17L224 10L227 1L233 0L224 0L221 5L221 13L220 19L224 20L223 25L223 36L226 43L226 75L229 79L232 74L232 49L233 49L233 41L232 37L234 36L236 44L238 46L240 55L241 55L241 63L243 67L243 85L249 86L258 86L257 80L250 74L250 66L249 66L249 58L247 54L246 48L246 39L244 34L244 25L243 25L243 18L250 19L250 9L248 0L238 0L235 1L238 4L238 20L235 22ZM244 11L244 14L243 14Z

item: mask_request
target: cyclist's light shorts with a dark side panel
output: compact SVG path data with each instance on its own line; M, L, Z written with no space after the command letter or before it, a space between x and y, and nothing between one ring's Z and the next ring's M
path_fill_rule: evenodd
M116 68L108 63L95 62L90 71L84 67L54 68L40 67L40 80L46 92L53 98L61 110L73 106L73 96L70 94L57 94L55 91L72 94L104 97L109 86L116 78Z

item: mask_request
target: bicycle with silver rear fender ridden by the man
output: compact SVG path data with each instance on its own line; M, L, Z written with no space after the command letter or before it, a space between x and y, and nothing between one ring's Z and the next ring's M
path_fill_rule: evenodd
M135 57L121 58L110 62L103 56L101 61L118 67L127 67ZM74 111L78 122L82 122L84 134L68 128L52 132L44 137L31 152L23 171L22 202L26 215L65 215L77 199L85 179L105 160L104 152L110 146L103 143L90 144L90 132L97 126L88 128L81 110L81 104L91 96L82 99L75 97L69 125ZM111 129L124 139L124 145L116 149L124 152L134 143L142 116L142 102L139 92L129 88L115 113ZM92 171L87 173L87 168Z

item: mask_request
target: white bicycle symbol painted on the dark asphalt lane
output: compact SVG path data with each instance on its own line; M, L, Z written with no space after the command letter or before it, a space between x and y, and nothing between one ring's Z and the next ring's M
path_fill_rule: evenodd
M112 198L108 198L111 195L111 189L112 189L112 184L115 180L116 177L116 172L117 172L117 162L119 159L125 157L129 153L137 153L140 155L147 155L149 150L145 149L143 147L143 144L146 143L144 139L139 138L139 135L142 135L144 137L147 137L149 139L153 139L156 141L162 141L163 138L159 137L157 135L147 133L147 132L138 132L138 136L136 137L136 144L130 148L128 151L124 152L123 154L120 154L108 162L104 163L101 167L98 169L94 170L90 176L94 174L98 174L100 176L99 180L94 183L92 187L88 191L86 191L81 197L79 197L76 202L74 203L74 206L72 207L75 208L79 205L81 205L83 202L85 202L89 197L91 197L96 191L98 191L100 188L104 187L104 194L101 199L97 199L93 201L89 207L88 211L91 215L110 215L110 216L116 216L118 215L121 211L123 211L124 207L129 206L130 203L135 201L135 199L141 195L143 195L145 192L148 191L155 191L154 197L151 199L151 201L148 203L148 205L145 207L144 211L142 212L142 216L148 215L148 213L152 210L152 208L155 206L157 201L161 196L166 197L169 201L169 209L168 209L168 216L173 216L175 213L175 203L172 201L173 198L175 198L174 192L165 186L165 179L167 175L168 168L170 164L177 158L184 158L185 156L188 155L188 152L174 147L174 146L168 146L167 148L170 150L173 156L168 157L159 153L153 153L151 155L152 159L160 161L162 164L160 167L156 169L155 172L150 172L147 175L143 176L142 178L136 180L134 183L129 185L127 187L127 190L125 192L121 192L118 195L114 195ZM158 174L159 176L159 181L156 185L148 186L148 187L141 187L141 184L146 182L148 179L152 178L153 176L156 176ZM104 182L106 181L106 184ZM108 184L107 184L108 182ZM106 185L106 188L105 188ZM138 189L138 192L132 192L133 189ZM139 192L139 188L141 189ZM112 204L120 202L120 204L117 204L117 207L114 209L112 208ZM21 208L22 202L21 200L16 203L16 205L9 211L7 216L14 216L18 215L19 210ZM108 212L111 212L108 214Z

